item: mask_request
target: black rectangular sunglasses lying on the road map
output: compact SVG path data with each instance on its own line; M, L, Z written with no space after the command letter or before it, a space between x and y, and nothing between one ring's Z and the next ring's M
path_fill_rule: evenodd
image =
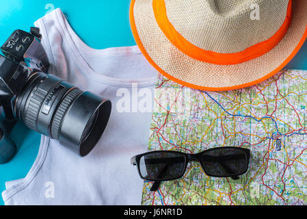
M235 146L217 147L196 154L178 151L150 151L131 158L137 166L139 176L155 181L150 191L156 191L161 181L179 179L185 174L189 161L200 162L209 177L231 177L239 179L248 170L250 149Z

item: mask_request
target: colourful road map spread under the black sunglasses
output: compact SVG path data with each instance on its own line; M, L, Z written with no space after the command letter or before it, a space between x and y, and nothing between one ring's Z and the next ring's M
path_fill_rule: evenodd
M284 70L256 86L206 92L159 75L149 151L251 150L240 179L208 177L190 162L182 179L161 183L143 205L306 205L307 71Z

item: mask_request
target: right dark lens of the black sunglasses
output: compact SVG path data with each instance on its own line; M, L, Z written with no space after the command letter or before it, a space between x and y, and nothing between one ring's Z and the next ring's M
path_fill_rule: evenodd
M238 148L211 149L203 153L202 165L213 177L242 175L248 169L248 157Z

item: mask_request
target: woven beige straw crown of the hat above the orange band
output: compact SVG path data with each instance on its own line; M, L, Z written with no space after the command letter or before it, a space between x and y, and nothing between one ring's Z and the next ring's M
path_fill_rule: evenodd
M238 53L271 38L289 5L289 0L164 1L168 20L183 38L217 53Z

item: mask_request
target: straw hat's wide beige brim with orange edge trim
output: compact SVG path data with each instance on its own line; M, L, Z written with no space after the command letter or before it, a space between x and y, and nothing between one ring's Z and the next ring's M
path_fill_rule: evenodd
M132 0L131 30L139 49L159 73L198 90L234 90L253 86L278 73L307 38L307 1L293 1L292 22L284 38L260 57L233 65L201 62L185 55L163 34L155 20L152 0Z

